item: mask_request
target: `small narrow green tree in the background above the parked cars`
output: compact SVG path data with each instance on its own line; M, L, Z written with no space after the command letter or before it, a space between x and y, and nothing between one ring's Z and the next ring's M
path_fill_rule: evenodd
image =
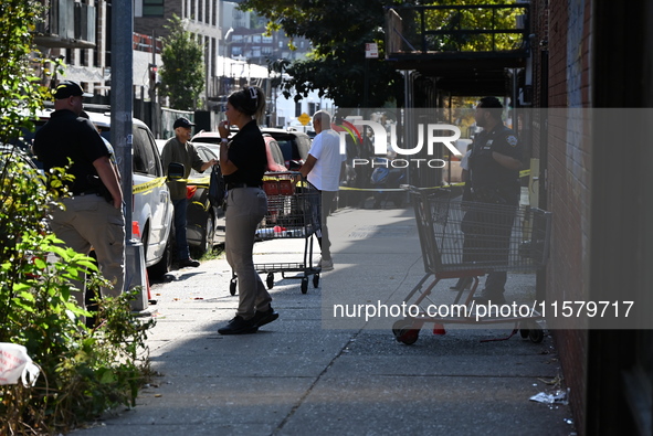
M170 33L162 39L160 93L170 98L171 108L192 110L204 89L203 47L179 17L172 14L168 21L165 28Z

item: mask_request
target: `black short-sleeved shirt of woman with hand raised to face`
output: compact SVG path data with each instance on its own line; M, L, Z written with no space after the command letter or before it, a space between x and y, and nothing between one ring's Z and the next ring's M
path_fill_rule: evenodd
M224 176L227 183L260 187L267 168L265 140L255 120L247 123L229 143L228 158L238 170Z

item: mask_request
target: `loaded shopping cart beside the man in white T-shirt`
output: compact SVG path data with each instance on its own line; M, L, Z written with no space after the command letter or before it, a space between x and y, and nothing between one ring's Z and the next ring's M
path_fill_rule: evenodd
M304 238L304 257L302 262L294 263L254 262L254 268L257 273L267 274L267 289L274 287L274 273L281 273L283 278L302 279L302 294L306 294L309 276L313 276L314 287L319 285L320 268L313 264L312 236L320 228L320 193L297 171L266 172L263 190L267 196L267 213L259 224L256 238ZM302 275L286 277L285 273ZM236 285L238 277L232 273L229 287L231 295L235 295Z

